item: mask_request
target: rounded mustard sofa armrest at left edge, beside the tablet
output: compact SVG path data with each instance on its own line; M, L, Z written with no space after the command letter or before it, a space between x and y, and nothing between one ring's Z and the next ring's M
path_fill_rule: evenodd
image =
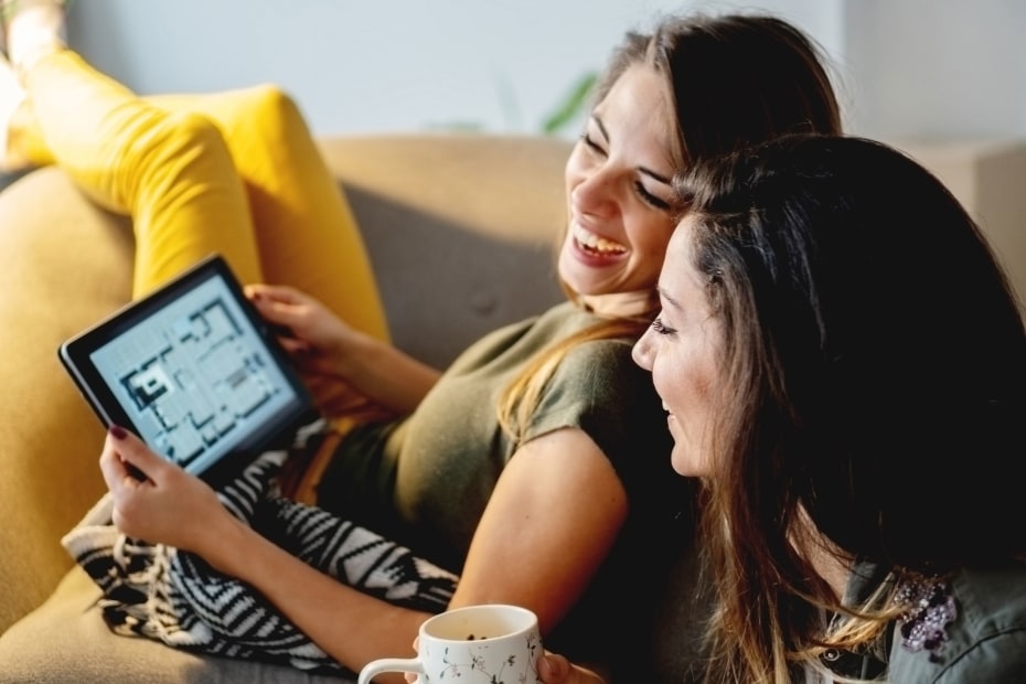
M57 169L0 193L0 631L71 566L60 545L104 491L104 431L57 345L128 300L128 223Z

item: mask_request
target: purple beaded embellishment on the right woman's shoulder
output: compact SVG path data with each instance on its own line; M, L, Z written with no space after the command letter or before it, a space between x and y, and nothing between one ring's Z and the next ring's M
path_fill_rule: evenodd
M948 641L944 630L959 616L951 584L936 577L906 578L895 602L908 606L898 618L901 645L913 653L927 650L931 663L940 662L940 649Z

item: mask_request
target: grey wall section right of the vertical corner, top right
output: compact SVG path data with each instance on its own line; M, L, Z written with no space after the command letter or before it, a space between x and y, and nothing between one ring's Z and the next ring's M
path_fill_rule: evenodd
M843 4L859 132L1026 139L1026 2Z

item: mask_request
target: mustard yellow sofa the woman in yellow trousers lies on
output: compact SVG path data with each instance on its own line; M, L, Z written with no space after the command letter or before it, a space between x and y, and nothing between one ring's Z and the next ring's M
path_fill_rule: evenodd
M378 275L397 344L445 364L559 300L569 143L477 133L321 140ZM104 492L103 429L62 340L129 298L129 222L55 168L0 192L0 682L320 682L107 632L98 590L60 545ZM327 680L325 680L327 681Z

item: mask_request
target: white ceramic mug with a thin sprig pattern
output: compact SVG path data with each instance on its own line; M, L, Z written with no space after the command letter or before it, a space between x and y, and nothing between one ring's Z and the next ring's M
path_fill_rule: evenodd
M468 606L434 616L420 626L417 658L383 658L360 671L359 684L383 672L413 672L417 682L541 684L538 619L520 606Z

